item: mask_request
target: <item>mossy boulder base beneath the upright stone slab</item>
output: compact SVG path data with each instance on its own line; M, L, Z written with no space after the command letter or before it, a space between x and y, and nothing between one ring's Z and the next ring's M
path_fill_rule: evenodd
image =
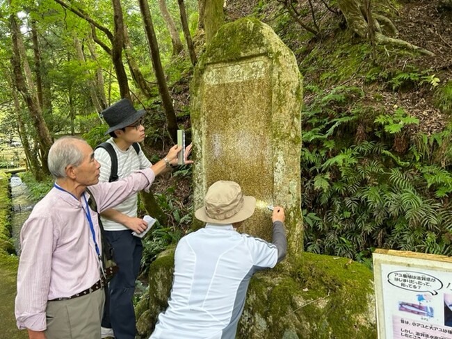
M148 338L166 309L174 249L150 267L150 292L138 332ZM372 272L348 258L303 253L291 268L253 276L236 338L377 338Z

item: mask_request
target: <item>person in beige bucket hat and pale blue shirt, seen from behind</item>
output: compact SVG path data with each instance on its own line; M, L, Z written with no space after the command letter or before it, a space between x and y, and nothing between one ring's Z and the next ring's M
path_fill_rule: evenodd
M168 308L150 339L234 339L251 276L286 255L284 209L275 206L271 242L236 231L255 197L234 181L216 181L195 217L206 226L181 238Z

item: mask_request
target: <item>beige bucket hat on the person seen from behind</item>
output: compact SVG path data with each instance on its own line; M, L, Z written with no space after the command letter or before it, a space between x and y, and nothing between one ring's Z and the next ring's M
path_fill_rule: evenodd
M212 224L232 224L251 217L255 208L255 197L243 195L238 183L220 180L209 187L204 206L196 210L195 217Z

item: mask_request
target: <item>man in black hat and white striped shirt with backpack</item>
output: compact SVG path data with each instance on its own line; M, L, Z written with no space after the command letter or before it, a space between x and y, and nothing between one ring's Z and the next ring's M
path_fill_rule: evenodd
M122 99L102 112L110 127L106 134L110 134L111 138L101 146L106 144L114 153L109 154L105 146L95 149L95 158L101 165L99 181L115 180L111 178L113 161L116 161L119 179L152 165L138 144L145 139L144 114L145 110L136 110L129 99ZM187 156L190 151L191 145L186 149ZM177 159L165 160L167 167L177 163ZM186 163L193 161L186 160ZM136 335L132 299L143 245L132 232L141 233L147 228L147 222L137 217L137 200L136 194L131 195L114 209L102 213L105 235L114 248L115 262L119 267L108 285L109 298L102 320L102 338L134 339Z

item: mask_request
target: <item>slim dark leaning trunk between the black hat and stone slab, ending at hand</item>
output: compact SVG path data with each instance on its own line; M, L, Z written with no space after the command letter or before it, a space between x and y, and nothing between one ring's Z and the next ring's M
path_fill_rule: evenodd
M170 92L168 91L168 85L166 84L165 73L160 60L159 44L154 32L154 25L152 24L151 13L147 0L138 0L140 4L140 12L143 17L143 24L145 25L145 32L147 41L149 43L151 51L152 65L154 66L154 72L157 79L157 85L159 86L159 93L162 99L163 108L166 113L166 122L168 124L168 133L172 142L177 142L177 119L175 109L172 106L172 100Z

